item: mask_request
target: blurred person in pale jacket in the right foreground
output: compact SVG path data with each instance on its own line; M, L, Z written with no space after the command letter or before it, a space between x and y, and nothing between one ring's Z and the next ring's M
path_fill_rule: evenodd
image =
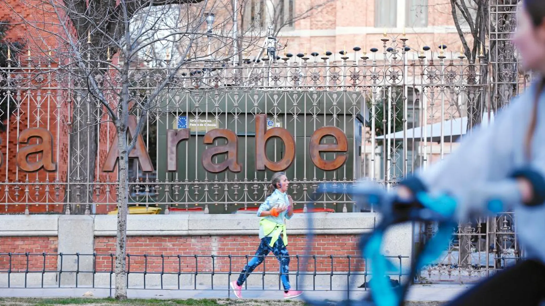
M450 306L538 305L545 301L545 1L523 0L513 43L537 80L443 161L403 180L399 201L418 192L457 199L456 220L513 210L526 258L483 280ZM490 209L500 200L501 209ZM498 202L495 202L498 203Z

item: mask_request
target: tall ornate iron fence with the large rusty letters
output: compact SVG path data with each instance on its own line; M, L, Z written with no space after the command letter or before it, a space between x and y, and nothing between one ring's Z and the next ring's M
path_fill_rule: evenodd
M479 82L479 67L486 64L467 63L444 49L410 51L406 41L384 37L382 52L355 48L340 59L284 54L260 63L184 65L145 118L142 141L132 152L130 202L170 213L190 208L231 213L263 201L270 169L287 168L296 206L304 208L319 183L334 182L344 190L369 177L391 185L442 157L467 126L464 105L486 92ZM116 138L104 107L93 101L84 79L66 73L69 66L30 57L15 64L2 70L7 86L0 103L11 114L2 135L4 211L60 211L63 204L90 213L114 209ZM143 61L131 68L131 95L149 95L173 65ZM94 79L115 84L116 72L106 70L98 68ZM138 118L135 111L129 126ZM419 135L411 129L434 123ZM267 132L271 127L285 130ZM232 133L214 135L219 137L214 141L207 134L213 129ZM445 133L449 129L452 133ZM271 136L282 139L272 137L264 146ZM42 145L26 145L32 137ZM225 138L236 160L207 151L226 145ZM324 144L333 151L320 152L328 150ZM214 172L224 162L229 170ZM318 202L336 211L353 209L342 192Z

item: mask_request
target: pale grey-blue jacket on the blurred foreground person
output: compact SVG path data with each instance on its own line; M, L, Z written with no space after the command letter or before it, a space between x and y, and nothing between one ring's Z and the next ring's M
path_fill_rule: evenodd
M444 160L416 177L434 192L452 193L459 201L459 210L467 206L484 211L482 203L471 202L468 192L479 184L504 183L518 168L530 165L545 175L545 91L540 95L537 126L532 143L532 160L524 157L524 138L531 118L537 85L532 84L522 95L498 112L495 122L487 128L477 128ZM545 263L545 205L526 207L506 203L516 217L516 232L530 258Z

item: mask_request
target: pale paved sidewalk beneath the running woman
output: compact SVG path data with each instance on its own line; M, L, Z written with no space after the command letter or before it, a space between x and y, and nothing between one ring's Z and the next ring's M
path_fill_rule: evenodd
M434 284L434 285L413 285L409 290L407 301L410 302L446 302L450 301L455 296L468 290L470 285L452 285L452 284ZM334 289L335 290L335 289ZM306 291L306 294L312 299L338 301L346 298L346 291L316 290ZM81 297L85 292L93 292L94 297L110 296L108 288L0 288L0 296L2 297ZM114 290L111 290L113 295ZM351 291L350 298L359 299L367 295L368 291L359 290ZM235 298L232 292L227 290L193 290L191 288L177 290L160 290L160 289L129 289L129 298ZM280 290L262 290L259 287L243 290L244 298L251 299L281 299L282 291ZM298 298L302 299L302 298Z

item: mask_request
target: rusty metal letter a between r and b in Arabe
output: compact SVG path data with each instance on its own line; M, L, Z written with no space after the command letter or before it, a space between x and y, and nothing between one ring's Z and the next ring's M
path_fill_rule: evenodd
M242 168L237 163L237 142L238 137L232 130L228 129L213 129L204 135L204 143L211 145L214 139L221 137L227 139L225 146L213 146L204 150L202 157L203 167L208 172L222 172L229 168L231 172L240 172ZM216 154L227 153L227 159L222 163L216 164L212 162L212 157Z

